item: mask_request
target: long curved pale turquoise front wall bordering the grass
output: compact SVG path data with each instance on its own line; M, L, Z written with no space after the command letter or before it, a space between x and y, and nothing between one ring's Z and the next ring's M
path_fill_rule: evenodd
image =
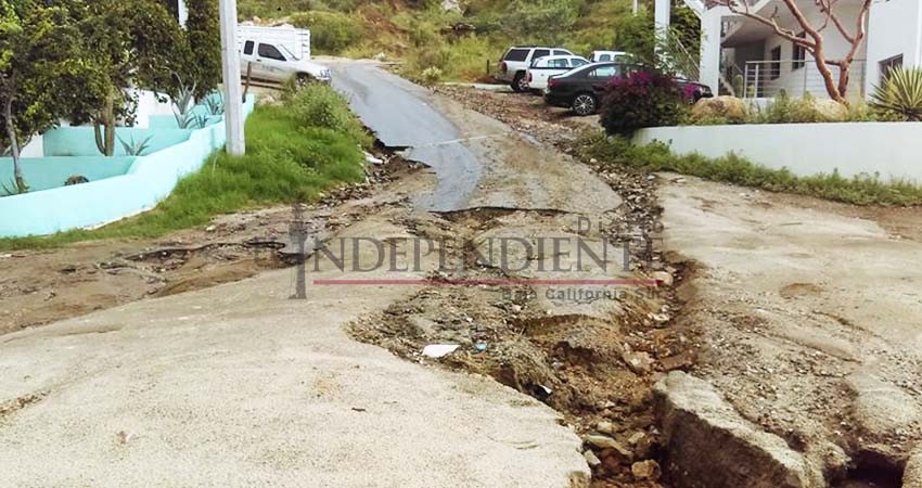
M244 104L248 116L255 106ZM192 131L179 144L135 159L128 172L54 190L0 197L0 236L48 235L99 227L156 206L179 180L202 167L226 142L223 120Z

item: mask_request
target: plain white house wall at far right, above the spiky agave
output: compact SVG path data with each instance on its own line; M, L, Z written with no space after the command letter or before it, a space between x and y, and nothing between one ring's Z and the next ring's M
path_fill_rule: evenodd
M881 82L880 62L902 55L904 65L922 65L922 2L874 2L868 23L868 76L866 91Z

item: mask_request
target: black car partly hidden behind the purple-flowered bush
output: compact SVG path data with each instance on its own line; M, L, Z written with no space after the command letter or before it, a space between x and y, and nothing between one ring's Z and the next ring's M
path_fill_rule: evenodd
M623 63L596 63L576 68L548 80L545 102L549 105L571 108L576 115L592 115L599 111L602 91L613 78L627 76L641 69L637 65ZM692 93L694 101L714 97L705 85L676 78L676 81Z

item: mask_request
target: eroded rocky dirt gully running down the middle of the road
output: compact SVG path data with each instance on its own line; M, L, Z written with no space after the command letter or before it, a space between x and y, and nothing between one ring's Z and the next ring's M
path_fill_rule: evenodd
M430 100L488 163L468 208L421 215L409 227L427 240L468 243L445 249L450 262L468 266L432 273L428 286L354 322L349 332L410 361L491 376L562 412L586 440L593 487L664 486L651 390L663 373L693 365L695 338L691 326L674 321L686 269L656 249L655 179L567 157L554 146L573 141L579 126L562 131L554 114L547 115L553 121L504 117L505 125L495 113L468 110L473 106L464 98ZM545 130L516 130L524 127ZM586 232L580 219L591 222ZM628 244L629 257L616 270L580 268L567 278L644 284L556 284L559 275L527 266L553 259L540 251L517 257L527 269L483 259L491 237L534 243L573 235ZM434 359L422 354L427 345L458 349Z

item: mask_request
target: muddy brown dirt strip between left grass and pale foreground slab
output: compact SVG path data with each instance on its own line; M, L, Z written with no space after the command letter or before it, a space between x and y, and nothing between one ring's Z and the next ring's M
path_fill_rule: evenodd
M370 169L366 183L310 205L305 218L319 233L335 232L373 207L362 198L413 171L392 159ZM0 253L0 334L291 266L292 215L292 206L283 205L220 216L161 239Z

